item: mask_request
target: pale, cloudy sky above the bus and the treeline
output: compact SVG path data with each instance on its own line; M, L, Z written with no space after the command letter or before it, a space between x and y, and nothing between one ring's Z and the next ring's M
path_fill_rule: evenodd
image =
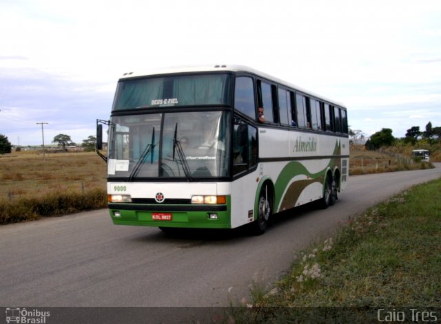
M81 144L125 72L181 65L253 67L342 102L366 136L441 126L439 0L0 0L0 39L14 145Z

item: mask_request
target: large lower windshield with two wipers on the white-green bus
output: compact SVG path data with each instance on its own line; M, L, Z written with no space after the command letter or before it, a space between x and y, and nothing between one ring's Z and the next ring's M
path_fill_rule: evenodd
M229 175L228 111L114 116L109 177L196 178Z

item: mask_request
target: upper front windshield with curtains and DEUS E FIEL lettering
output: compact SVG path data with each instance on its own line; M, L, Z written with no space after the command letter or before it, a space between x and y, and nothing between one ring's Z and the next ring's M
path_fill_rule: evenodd
M123 79L112 110L229 105L231 78L230 74L198 74Z

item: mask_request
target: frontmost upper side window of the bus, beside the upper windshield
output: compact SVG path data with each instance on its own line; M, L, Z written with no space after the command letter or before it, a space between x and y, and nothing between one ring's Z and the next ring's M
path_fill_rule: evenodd
M254 100L253 79L238 76L234 89L234 108L241 113L256 119L256 100Z

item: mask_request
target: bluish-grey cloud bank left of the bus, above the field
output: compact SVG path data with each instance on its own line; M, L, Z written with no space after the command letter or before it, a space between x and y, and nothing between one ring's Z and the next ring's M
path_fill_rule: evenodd
M41 143L37 122L49 123L48 136L66 133L81 142L94 134L96 118L110 115L114 89L106 84L27 69L1 75L0 84L0 133L23 144Z

